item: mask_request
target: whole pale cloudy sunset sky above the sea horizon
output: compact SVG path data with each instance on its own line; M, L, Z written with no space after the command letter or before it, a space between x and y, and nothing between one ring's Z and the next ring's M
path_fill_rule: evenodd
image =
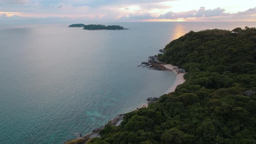
M0 0L0 24L256 21L256 0Z

